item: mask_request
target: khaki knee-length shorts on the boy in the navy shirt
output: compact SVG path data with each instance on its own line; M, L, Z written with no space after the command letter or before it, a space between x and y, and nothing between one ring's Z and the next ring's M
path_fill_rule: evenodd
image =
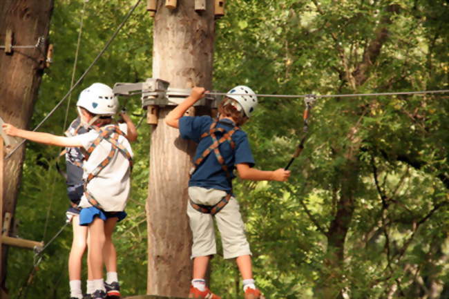
M226 192L222 190L189 187L189 197L195 204L213 206L225 195ZM240 206L234 197L231 197L229 203L215 216L196 211L190 203L187 207L187 215L189 215L190 228L193 234L191 258L217 253L215 229L213 227L214 217L221 235L223 256L225 258L237 258L240 255L251 255L245 235L245 224L242 215L240 215Z

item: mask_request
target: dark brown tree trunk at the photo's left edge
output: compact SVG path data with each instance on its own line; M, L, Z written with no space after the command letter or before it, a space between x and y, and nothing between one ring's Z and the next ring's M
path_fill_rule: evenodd
M6 30L12 30L12 44L17 46L36 45L38 37L48 37L52 9L52 0L3 0L0 6L1 45L5 43ZM0 48L0 116L5 122L28 128L44 73L46 48L47 43L39 48L13 48L8 55ZM24 152L25 147L21 146L5 161L5 173L8 175L4 177L3 215L6 212L14 215ZM3 289L7 254L3 250L1 255Z

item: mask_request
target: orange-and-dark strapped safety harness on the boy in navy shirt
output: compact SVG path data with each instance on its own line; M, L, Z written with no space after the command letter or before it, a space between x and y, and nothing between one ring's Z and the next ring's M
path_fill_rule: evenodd
M220 212L221 209L223 209L228 204L228 202L232 196L232 174L229 171L229 168L225 163L225 159L222 157L222 155L220 153L219 146L222 143L229 142L231 149L234 150L234 148L236 147L236 144L235 144L235 142L233 142L231 137L232 137L233 133L236 133L236 131L240 130L240 128L238 126L233 126L233 128L231 128L230 131L226 131L224 128L217 128L217 124L219 122L220 121L218 121L218 119L216 119L209 127L209 131L203 133L200 136L200 140L203 139L204 137L211 136L212 144L211 144L211 146L209 146L209 148L207 148L206 150L204 150L202 152L201 156L198 157L197 160L195 160L193 162L193 167L190 171L190 174L193 175L193 173L198 169L198 166L200 166L200 164L203 162L203 160L213 151L213 153L215 153L215 155L216 155L218 163L220 163L221 168L226 173L226 177L229 182L229 185L231 186L231 190L227 191L227 194L224 197L222 197L220 202L218 202L217 204L214 204L213 206L207 206L204 204L195 204L195 202L190 200L190 204L193 207L193 209L200 211L201 213L211 214L211 215L216 215L216 213ZM231 124L229 124L227 122L220 122L220 124L223 124L225 126L232 126ZM218 137L216 135L217 133L222 135L222 137L220 139L218 139Z

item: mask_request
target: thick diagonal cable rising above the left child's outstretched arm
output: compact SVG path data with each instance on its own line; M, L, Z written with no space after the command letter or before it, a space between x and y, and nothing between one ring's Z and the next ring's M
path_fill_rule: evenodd
M48 117L50 117L53 113L55 113L55 111L57 110L57 108L59 108L59 106L61 106L61 104L67 99L67 97L72 93L72 91L75 89L75 87L78 86L78 84L84 79L84 77L86 77L86 75L88 74L88 72L90 71L91 68L93 68L93 66L97 63L98 59L100 57L102 57L102 55L104 54L104 52L106 52L106 50L108 49L109 45L111 45L112 41L115 39L115 37L117 36L118 32L120 31L120 29L122 29L122 27L124 26L124 24L126 23L126 21L128 21L129 17L131 17L132 13L134 12L135 8L137 8L137 5L139 5L140 1L142 0L137 0L137 2L135 3L135 5L131 8L131 10L129 10L128 14L126 15L126 17L124 18L124 20L122 21L122 23L117 27L117 29L115 30L115 32L113 33L112 37L108 40L108 42L106 43L106 45L104 46L103 50L101 50L99 52L99 54L97 55L97 57L95 57L95 59L93 60L92 64L90 64L90 66L88 66L88 68L84 71L83 75L81 75L81 77L79 77L78 81L75 83L74 86L72 86L72 88L70 88L70 90L68 90L68 92L66 93L66 95L64 95L64 97L56 104L55 108L52 108L52 110L50 110L50 112L48 113L48 115L46 117L44 117L44 119L41 120L41 122L34 128L32 129L32 131L36 131L42 124L44 124L44 122L46 122L46 120L48 119ZM6 155L5 160L8 160L11 155L13 153L15 153L17 151L17 149L22 146L24 143L26 142L26 139L23 140L21 143L19 143L15 148L12 149L12 151Z

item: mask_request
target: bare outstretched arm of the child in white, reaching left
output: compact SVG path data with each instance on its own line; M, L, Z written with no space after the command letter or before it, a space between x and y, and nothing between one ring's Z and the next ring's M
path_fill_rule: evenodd
M1 128L3 128L3 132L5 132L10 136L21 137L42 144L55 145L55 146L70 146L70 147L83 146L79 141L70 137L57 136L49 133L21 130L20 128L12 126L12 124L3 124Z

